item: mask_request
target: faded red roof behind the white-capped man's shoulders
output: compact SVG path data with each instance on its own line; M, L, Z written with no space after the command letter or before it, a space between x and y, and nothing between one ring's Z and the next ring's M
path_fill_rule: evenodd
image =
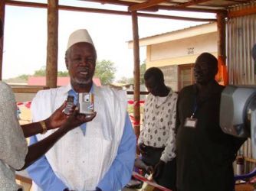
M66 86L70 81L70 77L57 77L57 86ZM99 78L94 78L93 81L97 86L101 86ZM28 77L28 86L46 86L45 76Z

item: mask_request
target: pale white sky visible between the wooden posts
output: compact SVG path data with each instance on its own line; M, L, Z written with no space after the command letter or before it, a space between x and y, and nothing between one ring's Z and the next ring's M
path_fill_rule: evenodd
M46 3L44 0L34 0L33 2ZM60 0L59 4L106 9L120 8L120 11L126 11L120 6L74 0ZM168 11L168 15L181 14L179 11ZM182 16L189 17L190 15L192 14L186 13ZM200 17L201 15L208 18L215 16L212 14L195 16ZM202 24L202 22L141 17L138 22L139 37L149 37ZM97 49L97 60L110 60L115 63L116 81L122 77L133 76L133 50L129 49L127 44L127 41L133 39L132 18L77 11L59 11L59 71L67 71L64 64L67 39L73 31L80 28L86 28L89 31ZM33 74L34 70L39 70L46 65L47 9L6 6L4 35L3 79L22 74ZM146 60L146 47L140 47L139 51L142 63L143 60Z

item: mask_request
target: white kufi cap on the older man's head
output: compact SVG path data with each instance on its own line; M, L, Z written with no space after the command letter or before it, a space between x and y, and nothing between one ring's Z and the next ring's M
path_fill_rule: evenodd
M90 34L86 29L80 29L74 31L68 38L67 49L69 49L72 45L77 43L90 43L94 46L93 40L91 40Z

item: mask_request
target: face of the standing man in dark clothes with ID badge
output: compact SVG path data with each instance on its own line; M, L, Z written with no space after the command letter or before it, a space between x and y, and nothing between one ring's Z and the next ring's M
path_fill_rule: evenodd
M217 69L215 66L212 66L211 63L198 62L195 63L194 67L194 76L195 82L205 85L215 79L215 74Z

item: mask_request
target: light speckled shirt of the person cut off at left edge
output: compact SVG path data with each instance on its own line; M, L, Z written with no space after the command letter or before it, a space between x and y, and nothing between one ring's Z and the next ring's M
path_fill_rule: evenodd
M25 164L27 142L16 115L15 95L11 88L0 82L0 189L17 190L15 169Z

